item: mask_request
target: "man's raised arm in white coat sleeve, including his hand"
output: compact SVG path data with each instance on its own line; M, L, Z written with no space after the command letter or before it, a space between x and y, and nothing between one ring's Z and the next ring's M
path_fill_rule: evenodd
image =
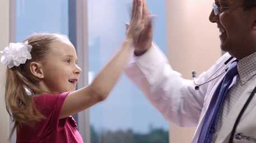
M190 92L191 81L182 79L181 74L174 72L162 51L152 44L153 27L145 0L143 3L144 29L140 36L134 37L136 56L125 66L124 71L144 92L151 104L162 113L165 120L179 126L196 126L203 106L203 97ZM186 103L187 101L189 102Z

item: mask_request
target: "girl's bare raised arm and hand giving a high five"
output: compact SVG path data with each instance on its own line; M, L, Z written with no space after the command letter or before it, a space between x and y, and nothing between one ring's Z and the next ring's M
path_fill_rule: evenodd
M92 84L68 94L61 108L60 119L103 101L111 92L131 53L131 46L134 43L132 37L140 35L145 22L142 17L143 1L133 0L133 4L131 23L130 26L126 25L126 39Z

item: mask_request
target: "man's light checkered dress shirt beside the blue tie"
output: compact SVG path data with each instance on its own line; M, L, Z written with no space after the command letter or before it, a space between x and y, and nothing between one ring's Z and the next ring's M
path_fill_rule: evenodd
M238 75L236 83L229 88L222 104L216 130L211 142L214 143L219 135L222 124L229 115L230 110L234 107L240 95L246 87L256 79L256 52L246 56L238 61Z

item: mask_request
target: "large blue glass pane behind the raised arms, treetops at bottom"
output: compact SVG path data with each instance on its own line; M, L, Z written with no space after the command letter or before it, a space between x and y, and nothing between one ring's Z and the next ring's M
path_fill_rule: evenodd
M131 0L130 0L131 1ZM88 0L89 83L125 38L127 0ZM164 0L148 0L154 41L166 53ZM169 142L169 123L122 75L108 98L90 108L91 142Z

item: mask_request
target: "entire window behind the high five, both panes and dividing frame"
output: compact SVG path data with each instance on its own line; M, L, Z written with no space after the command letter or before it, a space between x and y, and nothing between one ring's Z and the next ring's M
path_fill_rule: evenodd
M27 36L42 32L68 35L77 48L78 64L83 69L78 87L84 87L124 40L122 20L129 21L128 1L10 1L10 42L21 42ZM166 53L165 2L146 2L149 10L158 15L153 21L153 40ZM105 101L73 117L84 142L148 142L145 139L168 142L169 123L125 75ZM10 142L15 140L14 134Z

